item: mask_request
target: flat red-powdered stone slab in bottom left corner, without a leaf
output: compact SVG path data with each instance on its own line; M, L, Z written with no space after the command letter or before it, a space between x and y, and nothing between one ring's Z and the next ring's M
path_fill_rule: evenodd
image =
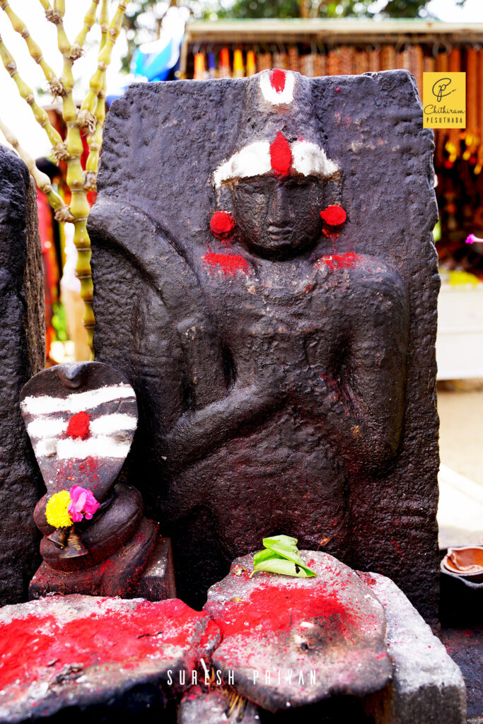
M0 610L0 722L14 724L119 702L151 686L159 703L180 693L219 641L206 614L179 599L148 602L81 595ZM149 697L144 704L149 703ZM86 714L87 715L87 714Z

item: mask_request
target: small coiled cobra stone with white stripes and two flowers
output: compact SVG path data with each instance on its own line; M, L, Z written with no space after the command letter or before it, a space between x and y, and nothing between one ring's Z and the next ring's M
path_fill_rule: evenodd
M138 490L116 482L138 422L125 376L97 362L51 367L25 384L20 407L47 488L30 597L175 595L169 542L143 518Z

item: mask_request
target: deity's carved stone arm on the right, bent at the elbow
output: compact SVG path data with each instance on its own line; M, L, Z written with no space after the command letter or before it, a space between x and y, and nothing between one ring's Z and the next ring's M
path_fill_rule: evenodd
M398 271L365 257L345 275L345 339L335 366L314 379L318 416L353 471L381 471L403 424L408 300Z

